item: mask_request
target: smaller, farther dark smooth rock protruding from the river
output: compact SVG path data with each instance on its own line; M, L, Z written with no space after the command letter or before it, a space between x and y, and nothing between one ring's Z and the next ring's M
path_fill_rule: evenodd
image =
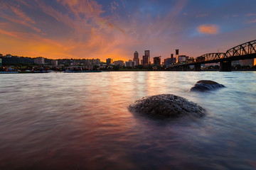
M196 84L191 88L191 91L210 91L220 87L225 86L223 84L218 84L215 81L201 80L196 82Z

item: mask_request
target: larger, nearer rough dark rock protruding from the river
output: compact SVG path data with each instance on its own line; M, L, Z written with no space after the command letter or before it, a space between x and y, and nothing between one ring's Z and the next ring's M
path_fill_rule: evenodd
M173 94L148 96L135 101L128 107L132 113L142 113L159 118L179 118L184 115L202 117L205 110L186 98Z

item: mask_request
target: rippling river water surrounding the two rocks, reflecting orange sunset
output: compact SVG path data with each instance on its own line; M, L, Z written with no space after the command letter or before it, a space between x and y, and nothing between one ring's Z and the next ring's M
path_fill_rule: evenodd
M226 87L189 92L210 79ZM0 169L255 169L255 72L0 74ZM205 118L127 106L176 94Z

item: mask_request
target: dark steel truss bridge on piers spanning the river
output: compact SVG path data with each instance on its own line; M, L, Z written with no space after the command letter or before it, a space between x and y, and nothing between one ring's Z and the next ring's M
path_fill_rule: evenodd
M196 57L194 62L185 62L171 66L173 69L182 68L186 70L194 65L195 71L201 71L201 64L220 63L220 72L231 72L231 62L235 60L246 60L256 58L256 40L245 42L227 50L227 52L215 52Z

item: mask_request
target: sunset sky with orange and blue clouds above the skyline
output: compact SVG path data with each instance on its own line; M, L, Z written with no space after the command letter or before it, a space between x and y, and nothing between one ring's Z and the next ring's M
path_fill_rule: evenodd
M0 0L0 53L198 57L255 40L255 8L255 0Z

